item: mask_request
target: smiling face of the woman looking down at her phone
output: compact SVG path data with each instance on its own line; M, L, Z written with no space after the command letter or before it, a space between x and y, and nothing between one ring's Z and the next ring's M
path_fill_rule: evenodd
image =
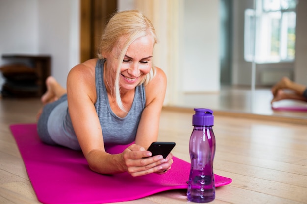
M124 56L119 85L121 91L134 89L152 68L153 37L150 35L136 39L128 47Z

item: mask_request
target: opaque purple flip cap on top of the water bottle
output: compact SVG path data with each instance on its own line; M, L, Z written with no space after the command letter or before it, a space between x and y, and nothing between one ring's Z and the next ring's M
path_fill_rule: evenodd
M195 114L193 115L193 126L213 126L214 116L213 111L204 108L195 108Z

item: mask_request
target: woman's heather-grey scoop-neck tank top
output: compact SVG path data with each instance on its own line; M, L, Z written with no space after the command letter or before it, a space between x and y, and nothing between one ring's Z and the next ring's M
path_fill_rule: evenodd
M126 117L116 116L111 110L103 81L105 60L99 59L95 67L97 101L95 108L102 127L104 145L129 144L135 140L141 114L145 108L145 89L143 84L135 88L134 100Z

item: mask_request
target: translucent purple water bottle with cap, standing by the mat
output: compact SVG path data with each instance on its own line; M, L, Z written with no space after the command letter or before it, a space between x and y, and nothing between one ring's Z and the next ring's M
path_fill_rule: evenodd
M195 108L194 111L194 129L189 144L191 171L187 198L192 202L206 203L215 199L215 136L212 129L214 116L210 109Z

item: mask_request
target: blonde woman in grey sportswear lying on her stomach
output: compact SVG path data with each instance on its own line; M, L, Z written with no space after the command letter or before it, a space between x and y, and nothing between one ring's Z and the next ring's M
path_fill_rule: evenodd
M102 35L99 59L72 68L67 94L53 77L46 80L37 125L42 141L81 149L89 167L101 174L169 170L171 153L163 159L146 151L157 140L166 91L164 72L152 65L156 41L152 23L141 13L115 14ZM133 141L120 154L105 151Z

